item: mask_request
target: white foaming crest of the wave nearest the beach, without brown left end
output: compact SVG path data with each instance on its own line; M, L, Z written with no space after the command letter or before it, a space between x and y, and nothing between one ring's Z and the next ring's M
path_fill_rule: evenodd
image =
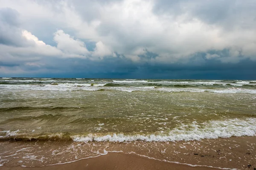
M190 127L190 128L188 128ZM124 135L123 133L113 133L112 135L97 136L89 134L87 136L72 136L74 142L168 142L168 141L189 141L200 139L217 139L219 137L229 138L231 136L254 136L256 134L256 118L230 119L225 121L208 121L204 124L192 122L192 124L181 125L171 130L168 135Z

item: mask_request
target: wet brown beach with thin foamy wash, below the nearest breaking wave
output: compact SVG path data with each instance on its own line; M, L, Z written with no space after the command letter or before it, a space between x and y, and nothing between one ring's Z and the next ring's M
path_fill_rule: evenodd
M0 142L0 151L0 170L256 170L256 136L178 142L6 141Z

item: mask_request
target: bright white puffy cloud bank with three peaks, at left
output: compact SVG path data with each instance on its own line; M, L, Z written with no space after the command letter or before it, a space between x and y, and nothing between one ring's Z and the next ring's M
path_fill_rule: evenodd
M20 29L20 28L17 28ZM75 40L63 30L56 31L53 35L53 40L56 42L56 47L47 45L27 30L20 31L20 37L23 37L22 42L26 46L13 46L0 44L0 62L7 65L25 64L29 66L44 66L47 63L41 60L52 57L57 58L88 58L102 59L106 56L114 56L115 54L104 45L102 42L96 43L94 51L88 51L86 45L81 40ZM3 68L5 70L6 68ZM13 68L12 68L13 69ZM19 69L17 69L18 71ZM15 70L11 71L14 72Z

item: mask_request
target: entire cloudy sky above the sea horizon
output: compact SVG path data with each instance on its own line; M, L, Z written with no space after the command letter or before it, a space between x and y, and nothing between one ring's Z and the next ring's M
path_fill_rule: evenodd
M0 77L256 79L256 1L0 0Z

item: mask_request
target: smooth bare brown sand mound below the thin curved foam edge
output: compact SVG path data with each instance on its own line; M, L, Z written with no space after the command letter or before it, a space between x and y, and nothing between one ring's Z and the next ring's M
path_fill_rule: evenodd
M148 159L135 154L108 153L96 158L46 167L0 167L1 170L216 170Z

